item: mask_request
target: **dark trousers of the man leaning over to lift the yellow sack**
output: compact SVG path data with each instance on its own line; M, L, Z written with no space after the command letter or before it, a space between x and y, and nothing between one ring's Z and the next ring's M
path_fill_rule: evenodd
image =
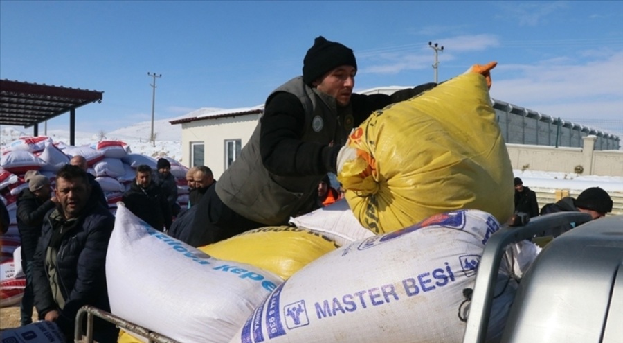
M191 210L188 214L194 212L195 215L190 225L190 235L193 239L186 243L194 247L216 243L244 231L266 226L246 219L226 206L216 193L216 184L208 188L206 194L192 206Z

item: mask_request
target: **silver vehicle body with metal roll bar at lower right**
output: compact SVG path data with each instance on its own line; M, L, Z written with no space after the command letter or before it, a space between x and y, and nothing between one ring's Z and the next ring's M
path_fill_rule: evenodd
M485 342L495 275L509 243L586 222L586 213L532 218L491 236L480 260L464 343ZM523 275L502 342L623 342L623 216L591 220L554 238Z

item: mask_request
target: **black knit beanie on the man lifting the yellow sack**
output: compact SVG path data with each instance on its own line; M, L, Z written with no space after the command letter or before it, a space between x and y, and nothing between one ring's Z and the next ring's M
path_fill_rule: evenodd
M314 45L307 50L303 59L303 82L311 85L320 76L334 68L349 65L357 69L357 61L352 49L343 44L331 42L323 36L314 40Z

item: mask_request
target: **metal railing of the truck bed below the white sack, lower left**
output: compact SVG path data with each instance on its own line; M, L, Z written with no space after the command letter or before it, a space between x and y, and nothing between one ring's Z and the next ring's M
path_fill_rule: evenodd
M86 336L82 334L81 330L84 315L87 316ZM125 319L117 317L112 313L106 312L105 310L100 310L99 308L88 305L82 306L82 308L78 310L78 314L75 315L74 343L93 343L93 316L99 317L107 322L115 324L118 328L123 328L124 331L129 331L135 333L136 335L141 335L142 337L147 338L147 342L149 343L179 343L176 340L172 340L171 338L166 337L165 335L154 333L147 328L143 328L143 326L138 326L136 324L128 322Z

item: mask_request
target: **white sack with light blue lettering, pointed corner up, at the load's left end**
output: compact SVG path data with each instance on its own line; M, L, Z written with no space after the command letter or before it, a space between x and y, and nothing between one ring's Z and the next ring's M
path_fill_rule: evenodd
M156 231L121 204L106 261L114 315L179 342L228 342L282 283Z

